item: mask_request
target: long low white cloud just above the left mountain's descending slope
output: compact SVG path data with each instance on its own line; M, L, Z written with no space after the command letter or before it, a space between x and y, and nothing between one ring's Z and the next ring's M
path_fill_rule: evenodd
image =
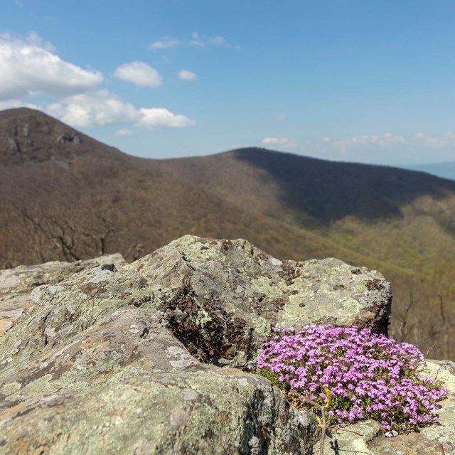
M48 105L48 112L73 127L106 124L135 124L149 129L183 128L196 124L181 114L164 108L136 109L107 90L73 95Z

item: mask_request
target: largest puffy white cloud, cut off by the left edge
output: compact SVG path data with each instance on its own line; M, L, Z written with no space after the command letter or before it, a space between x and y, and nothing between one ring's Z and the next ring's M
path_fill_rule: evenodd
M0 36L0 100L21 99L36 93L55 97L96 87L102 74L62 60L36 33L26 40Z

